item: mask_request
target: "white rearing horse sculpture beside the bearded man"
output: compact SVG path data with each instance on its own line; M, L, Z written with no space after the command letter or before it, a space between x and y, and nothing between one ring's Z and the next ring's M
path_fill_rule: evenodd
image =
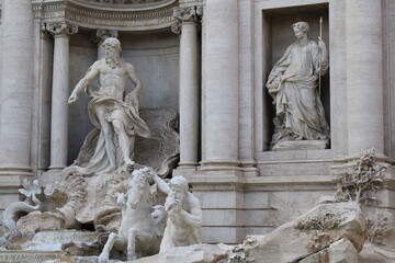
M102 253L99 255L99 263L109 261L112 248L127 254L127 260L136 260L137 258L153 255L159 252L162 230L160 225L166 220L158 210L156 219L151 215L154 196L150 193L148 175L153 170L150 168L142 168L132 173L128 191L126 193L127 201L124 202L124 195L119 196L119 203L122 206L122 221L119 233L110 233ZM160 214L160 211L159 211Z

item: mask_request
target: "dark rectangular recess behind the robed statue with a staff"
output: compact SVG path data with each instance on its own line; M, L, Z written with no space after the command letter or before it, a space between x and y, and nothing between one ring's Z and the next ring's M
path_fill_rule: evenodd
M270 150L270 142L274 130L273 118L275 110L273 99L268 93L266 82L273 66L284 55L286 48L295 42L292 25L295 22L309 24L309 38L318 41L319 19L323 16L323 41L330 57L329 48L329 8L328 3L300 5L292 8L276 8L262 10L262 144L263 151ZM329 58L330 64L330 58ZM320 100L325 110L325 118L330 126L330 70L321 77ZM318 90L318 88L317 88ZM330 144L329 144L330 148Z

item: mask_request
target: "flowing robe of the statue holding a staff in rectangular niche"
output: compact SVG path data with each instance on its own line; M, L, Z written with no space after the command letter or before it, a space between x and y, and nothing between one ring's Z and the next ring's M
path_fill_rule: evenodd
M323 136L329 138L329 126L317 92L319 62L323 75L329 64L327 58L320 61L316 42L295 42L274 65L268 78L271 83L278 83L278 88L269 92L283 127L292 135L308 140Z

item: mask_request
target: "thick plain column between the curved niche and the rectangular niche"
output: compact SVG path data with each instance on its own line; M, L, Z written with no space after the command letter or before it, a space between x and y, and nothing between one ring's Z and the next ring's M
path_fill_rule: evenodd
M235 170L238 161L238 1L206 1L205 159L202 170Z

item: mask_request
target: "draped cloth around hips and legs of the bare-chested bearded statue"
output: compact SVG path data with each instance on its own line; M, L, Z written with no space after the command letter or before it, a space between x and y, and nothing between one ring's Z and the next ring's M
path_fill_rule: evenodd
M128 136L131 158L133 158L135 135L145 138L150 136L147 124L138 116L138 99L134 92L126 95L125 102L100 91L94 92L88 104L89 116L94 128L86 137L76 163L80 168L79 171L87 174L102 173L111 165L105 149L104 132L97 114L99 107L104 111L105 119L109 123L119 119L123 124ZM112 155L115 156L116 167L120 168L124 164L124 159L121 148L116 147L119 144L116 136L113 136L113 142L115 152L112 152Z

